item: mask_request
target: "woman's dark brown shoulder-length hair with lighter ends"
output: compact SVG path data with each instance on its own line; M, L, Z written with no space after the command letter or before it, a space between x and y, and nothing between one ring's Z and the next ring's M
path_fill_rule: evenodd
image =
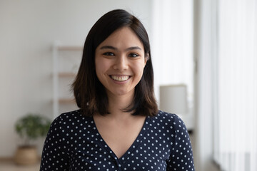
M81 65L71 87L74 90L76 104L81 108L83 115L92 116L94 113L106 115L109 113L106 90L96 76L95 51L102 41L122 27L129 27L136 33L143 43L145 58L148 58L141 81L135 87L133 101L122 110L131 112L132 115L153 116L158 113L153 93L153 66L146 29L135 16L125 10L116 9L101 16L86 37Z

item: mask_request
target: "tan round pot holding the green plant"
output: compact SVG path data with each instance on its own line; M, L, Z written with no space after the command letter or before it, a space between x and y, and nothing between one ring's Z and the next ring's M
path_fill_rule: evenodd
M18 165L33 165L39 162L36 146L18 147L14 156L14 162Z

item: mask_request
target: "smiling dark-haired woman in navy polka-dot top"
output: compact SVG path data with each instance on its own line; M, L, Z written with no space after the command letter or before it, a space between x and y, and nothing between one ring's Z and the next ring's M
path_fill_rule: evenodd
M135 16L114 10L94 24L73 89L80 109L52 123L40 170L194 170L186 126L157 108Z

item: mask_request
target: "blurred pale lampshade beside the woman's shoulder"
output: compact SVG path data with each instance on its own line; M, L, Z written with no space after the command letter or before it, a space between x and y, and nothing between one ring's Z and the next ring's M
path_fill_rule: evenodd
M160 86L160 109L168 113L188 113L186 85Z

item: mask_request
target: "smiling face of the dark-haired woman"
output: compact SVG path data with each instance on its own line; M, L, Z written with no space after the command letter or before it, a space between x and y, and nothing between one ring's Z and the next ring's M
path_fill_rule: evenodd
M96 48L96 76L107 95L133 95L146 65L143 43L129 27L114 31Z

